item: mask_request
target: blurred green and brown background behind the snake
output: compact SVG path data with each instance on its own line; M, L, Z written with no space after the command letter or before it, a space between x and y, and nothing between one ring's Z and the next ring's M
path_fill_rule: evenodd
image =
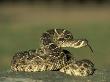
M47 29L65 28L86 38L89 48L66 48L97 69L110 69L110 0L0 0L0 70L18 51L39 48Z

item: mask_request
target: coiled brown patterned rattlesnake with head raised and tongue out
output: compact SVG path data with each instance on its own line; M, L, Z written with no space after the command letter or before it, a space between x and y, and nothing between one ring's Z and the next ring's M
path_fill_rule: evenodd
M77 76L94 73L94 64L90 60L76 61L69 51L62 49L62 47L89 46L86 39L74 39L72 33L65 29L50 29L41 35L40 40L41 47L39 49L21 51L13 56L12 71L52 70ZM92 48L90 47L90 49Z

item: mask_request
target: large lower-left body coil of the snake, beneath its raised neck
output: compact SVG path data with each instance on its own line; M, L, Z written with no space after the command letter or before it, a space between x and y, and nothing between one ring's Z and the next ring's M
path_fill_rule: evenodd
M66 54L66 55L65 55ZM42 56L36 53L36 50L28 50L18 52L11 61L12 71L47 71L59 70L73 61L71 54L67 50L63 50L61 57L53 55Z

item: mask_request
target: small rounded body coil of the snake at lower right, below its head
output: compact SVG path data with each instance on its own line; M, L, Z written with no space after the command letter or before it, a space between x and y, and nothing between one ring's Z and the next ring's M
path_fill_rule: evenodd
M90 60L83 59L70 63L59 71L74 76L89 76L94 73L95 67Z

